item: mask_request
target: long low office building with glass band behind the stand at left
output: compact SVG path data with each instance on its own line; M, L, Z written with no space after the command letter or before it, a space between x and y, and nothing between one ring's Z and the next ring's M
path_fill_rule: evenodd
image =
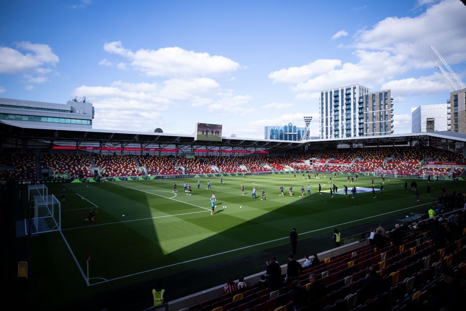
M18 126L91 129L94 107L85 98L67 104L0 98L0 119Z

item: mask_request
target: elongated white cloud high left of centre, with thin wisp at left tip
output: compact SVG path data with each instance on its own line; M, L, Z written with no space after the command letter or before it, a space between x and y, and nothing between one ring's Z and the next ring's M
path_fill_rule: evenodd
M148 76L218 75L240 68L238 63L224 56L186 51L179 47L140 49L133 52L125 49L120 41L114 41L105 43L103 49L125 57L134 69Z

